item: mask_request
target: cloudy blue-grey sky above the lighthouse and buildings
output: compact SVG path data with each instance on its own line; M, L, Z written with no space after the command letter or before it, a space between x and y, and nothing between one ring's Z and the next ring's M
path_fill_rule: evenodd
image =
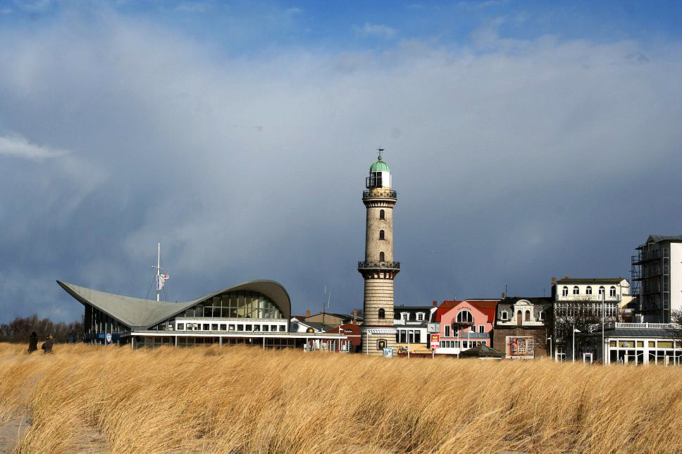
M395 303L630 277L682 234L678 1L0 0L0 322L56 279L169 301L252 279L362 307L390 165ZM326 291L326 294L324 293Z

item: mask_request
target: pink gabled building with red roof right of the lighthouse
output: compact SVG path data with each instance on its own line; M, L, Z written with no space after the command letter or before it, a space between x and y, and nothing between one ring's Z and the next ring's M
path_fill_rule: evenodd
M457 355L479 345L492 346L497 300L443 301L452 306L440 316L440 347L435 353Z

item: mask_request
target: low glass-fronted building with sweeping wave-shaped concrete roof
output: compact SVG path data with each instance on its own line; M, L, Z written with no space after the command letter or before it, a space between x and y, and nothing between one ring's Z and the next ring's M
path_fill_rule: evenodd
M333 334L290 333L291 300L274 281L243 282L178 303L57 283L85 307L86 341L130 342L133 347L214 342L302 347L311 337L323 338L329 345L345 339Z

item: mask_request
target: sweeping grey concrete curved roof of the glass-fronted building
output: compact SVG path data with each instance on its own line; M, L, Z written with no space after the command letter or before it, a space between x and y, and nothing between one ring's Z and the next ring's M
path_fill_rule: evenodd
M289 320L291 314L289 294L287 294L287 291L281 284L274 281L261 280L244 282L182 303L108 294L104 291L87 289L86 287L61 281L57 281L57 284L83 305L92 305L94 308L101 310L103 313L122 322L130 328L153 327L155 324L158 324L167 318L185 312L185 310L201 303L207 298L223 294L226 291L257 291L268 296L268 298L277 305L282 312L283 318Z

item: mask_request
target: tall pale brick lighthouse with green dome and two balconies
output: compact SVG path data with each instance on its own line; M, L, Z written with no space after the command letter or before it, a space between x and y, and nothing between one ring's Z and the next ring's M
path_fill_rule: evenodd
M358 271L365 279L362 352L382 355L383 349L395 348L393 325L393 279L400 263L393 261L393 206L397 201L391 189L391 170L381 159L369 168L362 202L367 208L365 260Z

